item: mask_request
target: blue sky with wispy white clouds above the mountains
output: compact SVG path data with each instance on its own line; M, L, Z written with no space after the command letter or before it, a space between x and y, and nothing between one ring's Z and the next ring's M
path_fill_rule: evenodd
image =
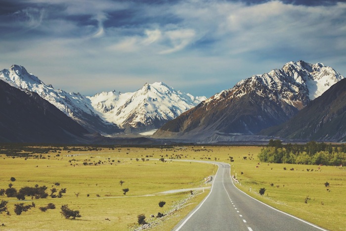
M1 0L0 69L93 95L211 96L286 62L346 75L345 0Z

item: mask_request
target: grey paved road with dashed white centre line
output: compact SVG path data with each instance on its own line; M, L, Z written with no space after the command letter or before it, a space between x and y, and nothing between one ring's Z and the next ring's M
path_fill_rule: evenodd
M218 165L208 196L174 231L318 231L324 230L280 212L240 191L232 182L230 165Z

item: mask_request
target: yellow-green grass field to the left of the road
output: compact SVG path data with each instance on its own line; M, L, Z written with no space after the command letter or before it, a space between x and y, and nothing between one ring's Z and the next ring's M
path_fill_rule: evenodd
M156 152L154 155L152 152ZM131 153L129 153L131 152ZM152 155L155 160L142 161L142 155ZM77 152L78 153L78 152ZM129 153L129 154L126 154ZM16 198L0 196L1 200L9 201L7 207L10 216L0 214L0 224L4 224L1 230L127 230L137 225L137 215L145 214L147 221L155 220L150 215L158 212L166 213L173 205L191 193L175 193L167 195L145 196L162 191L193 188L204 185L204 178L213 174L216 167L208 164L190 162L162 162L159 161L161 149L130 148L115 152L103 150L80 156L64 156L69 153L60 153L60 156L48 153L43 155L45 159L11 158L0 156L0 188L8 188L8 184L19 190L23 186L47 186L46 192L50 193L52 187L67 188L62 198L33 199L27 197L26 201L18 201ZM83 154L83 153L82 153ZM50 155L48 159L48 155ZM132 160L130 159L132 158ZM126 158L126 159L124 159ZM135 159L139 158L139 161ZM70 161L72 160L72 161ZM114 160L114 162L112 162ZM120 162L118 162L118 160ZM87 165L83 163L98 163ZM14 177L15 182L10 182ZM121 186L120 181L125 181ZM60 183L55 186L55 183ZM126 195L123 188L129 188ZM207 195L197 196L189 201L189 205L197 203ZM76 193L79 193L78 197ZM89 195L89 196L87 196ZM196 201L197 199L197 201ZM15 215L14 204L31 204L34 201L35 208L20 216ZM158 203L165 201L166 205L160 208ZM39 207L48 203L54 203L56 209L42 212ZM76 220L67 220L61 217L60 207L68 204L72 210L79 210L82 215ZM190 208L177 211L174 219L165 218L171 227L189 211ZM160 226L158 226L160 229ZM165 228L166 229L166 228Z

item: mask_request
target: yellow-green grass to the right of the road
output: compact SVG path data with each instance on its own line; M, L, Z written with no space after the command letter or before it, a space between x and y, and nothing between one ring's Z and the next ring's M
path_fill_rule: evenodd
M345 167L258 163L256 158L233 163L232 174L237 174L241 190L328 230L346 230ZM266 191L260 196L263 187Z

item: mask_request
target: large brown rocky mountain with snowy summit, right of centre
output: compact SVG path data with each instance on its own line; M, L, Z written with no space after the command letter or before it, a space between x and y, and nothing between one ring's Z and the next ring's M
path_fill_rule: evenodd
M154 138L225 141L281 124L344 79L322 63L286 63L238 82L161 127Z

